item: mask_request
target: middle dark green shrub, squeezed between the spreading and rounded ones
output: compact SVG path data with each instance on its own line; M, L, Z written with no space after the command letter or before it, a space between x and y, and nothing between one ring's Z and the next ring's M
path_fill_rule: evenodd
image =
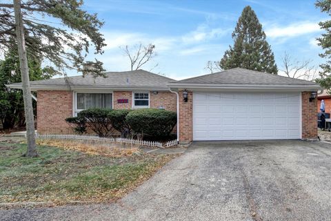
M121 132L121 137L128 137L131 131L126 121L126 115L128 115L129 112L129 110L112 110L107 115L110 122L112 122L112 127Z

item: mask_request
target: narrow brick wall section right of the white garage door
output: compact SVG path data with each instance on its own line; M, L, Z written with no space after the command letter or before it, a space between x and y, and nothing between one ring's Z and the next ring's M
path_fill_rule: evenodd
M309 102L310 92L301 93L302 99L302 139L317 139L317 99Z

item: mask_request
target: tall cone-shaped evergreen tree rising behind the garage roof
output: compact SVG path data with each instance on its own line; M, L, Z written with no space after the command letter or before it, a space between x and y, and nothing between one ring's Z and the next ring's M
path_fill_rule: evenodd
M232 33L232 39L234 46L230 46L230 49L225 51L219 62L223 70L247 68L277 75L274 54L265 40L262 25L250 6L243 9Z

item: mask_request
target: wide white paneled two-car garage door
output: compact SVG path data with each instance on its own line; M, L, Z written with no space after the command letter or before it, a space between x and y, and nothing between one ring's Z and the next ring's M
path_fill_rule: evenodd
M300 137L300 93L193 93L193 140Z

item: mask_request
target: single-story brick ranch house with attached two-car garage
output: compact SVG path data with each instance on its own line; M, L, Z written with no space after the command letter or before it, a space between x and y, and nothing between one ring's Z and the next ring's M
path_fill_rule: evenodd
M85 108L177 111L179 142L317 139L318 84L243 68L181 81L145 70L107 77L31 81L38 133L72 133L65 118ZM21 84L10 84L21 88ZM183 99L187 94L187 100ZM316 94L315 94L316 95Z

